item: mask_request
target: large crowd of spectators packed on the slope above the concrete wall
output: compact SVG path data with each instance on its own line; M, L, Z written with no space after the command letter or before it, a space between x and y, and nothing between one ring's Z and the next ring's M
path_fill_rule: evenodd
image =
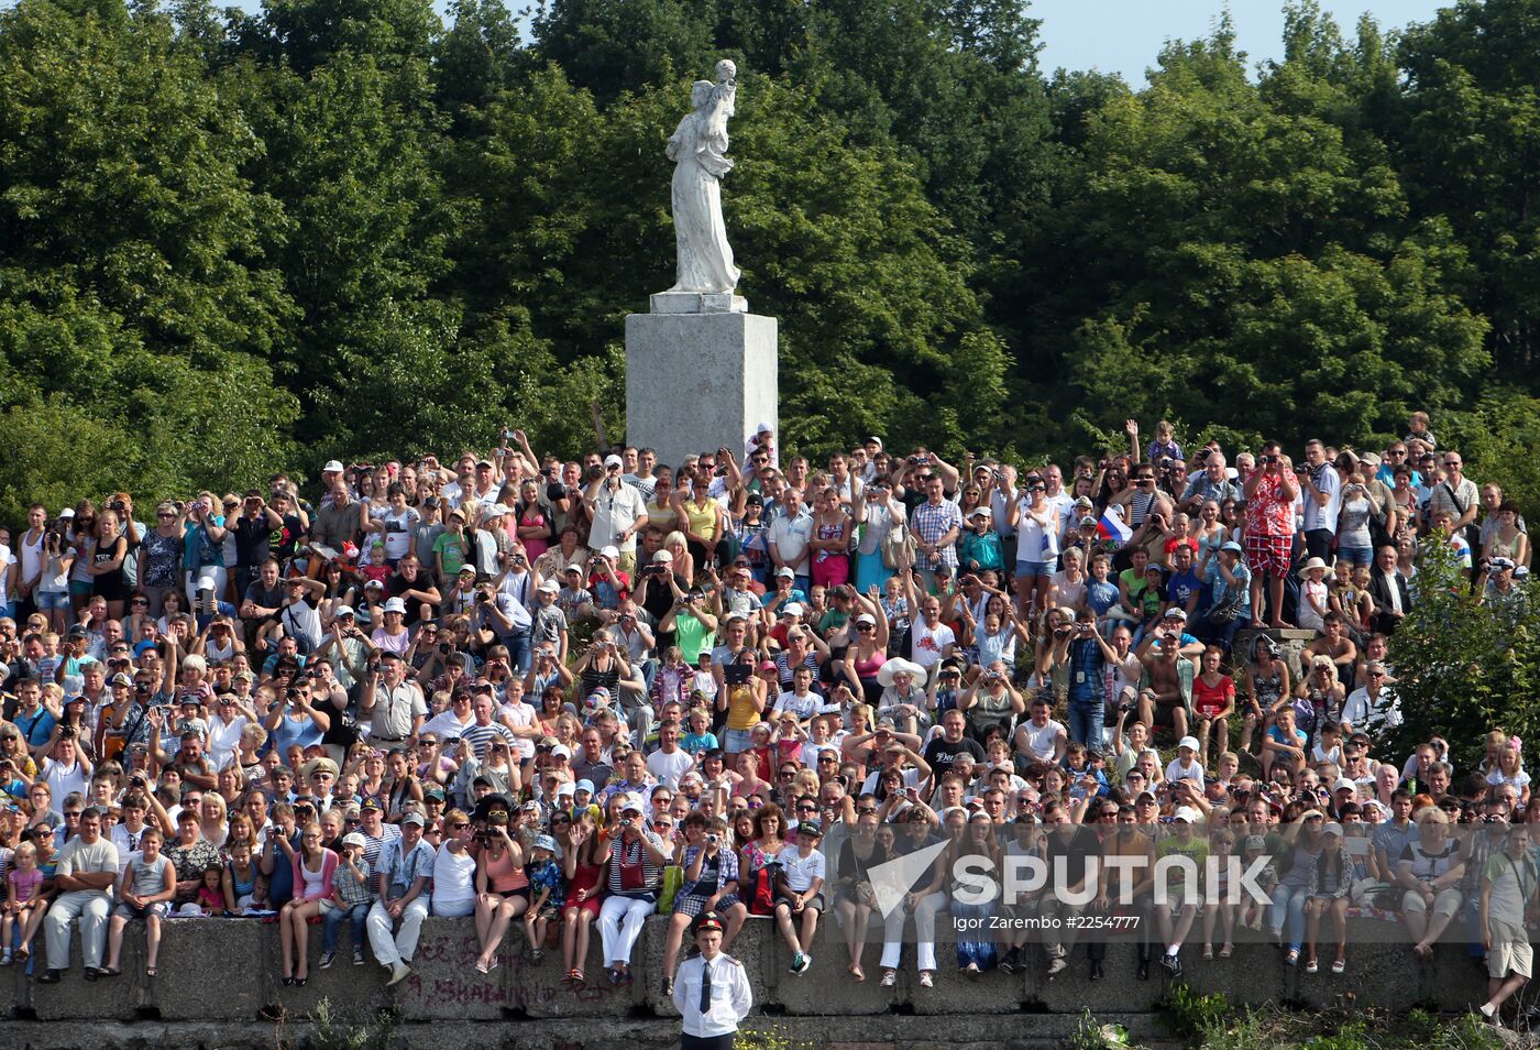
M477 971L517 944L574 990L630 984L651 914L670 990L701 916L713 957L770 919L793 974L833 922L824 967L865 981L870 933L882 985L906 954L932 985L942 914L983 930L967 976L1033 941L1073 964L1064 924L979 922L1010 911L1129 919L1143 981L1243 930L1343 973L1361 913L1485 957L1497 1021L1540 800L1495 728L1474 769L1388 751L1389 638L1431 544L1489 604L1523 601L1531 550L1429 426L1295 463L1130 421L1126 449L1026 467L875 436L815 466L768 426L676 467L562 461L510 429L310 490L32 506L0 530L0 965L42 933L57 982L79 925L85 978L116 978L142 928L154 976L166 920L260 916L285 985L313 925L322 968L396 984L428 914L471 919ZM1281 628L1312 632L1297 666ZM935 843L884 917L867 873ZM1021 854L1090 902L953 899L959 859ZM1266 856L1270 904L1092 863L1172 854Z

